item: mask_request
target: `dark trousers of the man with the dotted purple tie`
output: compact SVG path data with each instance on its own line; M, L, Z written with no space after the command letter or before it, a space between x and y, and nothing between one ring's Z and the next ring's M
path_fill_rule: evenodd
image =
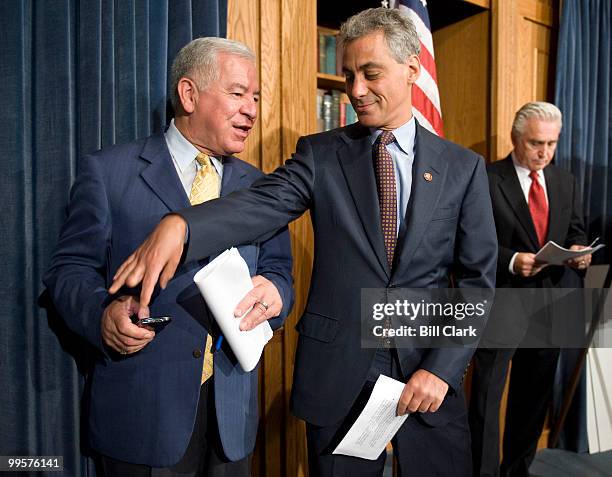
M382 476L386 451L376 460L332 454L363 410L379 374L405 382L394 350L379 350L368 381L349 414L341 422L323 427L306 424L310 477ZM431 427L418 413L411 414L393 438L392 444L400 477L469 477L472 473L466 414L441 427Z

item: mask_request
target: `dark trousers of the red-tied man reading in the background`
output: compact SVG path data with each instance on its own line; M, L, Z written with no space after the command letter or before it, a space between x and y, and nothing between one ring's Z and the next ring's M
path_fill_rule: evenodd
M479 349L474 355L470 429L474 475L527 477L542 433L559 357L558 349ZM499 405L508 365L510 389L499 465Z

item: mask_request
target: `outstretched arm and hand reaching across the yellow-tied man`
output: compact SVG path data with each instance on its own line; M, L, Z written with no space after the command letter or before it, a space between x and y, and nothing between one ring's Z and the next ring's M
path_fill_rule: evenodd
M140 304L148 306L156 283L165 288L174 276L183 256L187 227L186 261L233 245L261 242L310 207L313 186L313 151L308 139L302 138L292 159L250 188L164 217L119 267L109 292L142 282Z

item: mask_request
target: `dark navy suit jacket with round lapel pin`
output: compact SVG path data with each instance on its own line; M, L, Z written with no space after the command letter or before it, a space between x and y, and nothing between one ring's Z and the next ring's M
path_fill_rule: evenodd
M250 189L182 211L191 236L187 259L265 237L307 209L314 268L297 325L292 408L310 423L330 425L347 415L376 351L361 347L361 290L447 287L451 270L461 287L494 287L497 242L482 158L417 125L407 225L391 270L369 130L355 124L302 137L292 159ZM214 229L206 225L211 220ZM472 350L400 349L399 354L407 376L425 368L458 390ZM450 394L439 412L427 415L430 422L463 409L463 398Z

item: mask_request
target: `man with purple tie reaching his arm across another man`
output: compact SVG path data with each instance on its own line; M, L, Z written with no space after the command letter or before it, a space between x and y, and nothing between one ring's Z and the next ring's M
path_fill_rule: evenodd
M307 423L310 475L382 475L385 452L369 461L331 451L355 403L385 374L406 383L397 411L412 413L394 438L400 470L467 476L461 383L472 350L390 349L390 340L362 348L360 301L364 288L448 287L451 269L460 287L494 286L484 161L414 119L420 44L405 14L365 10L347 20L340 40L359 123L302 137L292 159L250 189L164 219L112 289L144 279L146 302L158 278L165 285L172 276L187 225L186 262L266 237L310 210L314 268L297 325L291 399Z

